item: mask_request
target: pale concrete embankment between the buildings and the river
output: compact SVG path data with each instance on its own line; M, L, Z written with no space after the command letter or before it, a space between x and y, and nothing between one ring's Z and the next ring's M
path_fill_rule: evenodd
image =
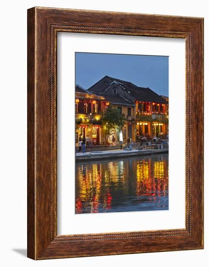
M123 158L140 155L151 155L159 153L168 153L168 149L147 149L147 150L109 150L109 151L95 151L86 153L76 153L76 161Z

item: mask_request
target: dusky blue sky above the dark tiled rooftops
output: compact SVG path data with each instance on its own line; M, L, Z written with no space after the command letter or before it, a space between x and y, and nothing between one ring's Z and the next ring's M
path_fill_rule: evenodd
M76 52L76 84L88 89L105 75L168 96L168 56Z

